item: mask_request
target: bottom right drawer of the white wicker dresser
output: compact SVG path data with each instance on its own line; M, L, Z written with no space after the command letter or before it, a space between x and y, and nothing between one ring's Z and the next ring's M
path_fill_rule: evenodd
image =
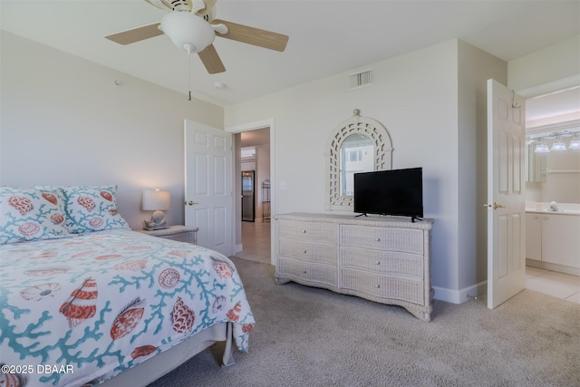
M359 270L341 269L341 289L350 289L372 297L425 305L423 281L410 278L379 276Z

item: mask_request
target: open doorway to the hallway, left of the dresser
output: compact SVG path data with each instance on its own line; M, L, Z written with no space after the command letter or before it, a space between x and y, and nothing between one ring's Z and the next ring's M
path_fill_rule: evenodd
M270 264L271 262L271 175L270 127L236 133L236 172L239 179L240 231L236 256ZM253 194L248 195L248 176L253 177ZM237 184L238 186L238 184ZM251 201L251 203L249 202ZM248 208L252 208L251 216Z

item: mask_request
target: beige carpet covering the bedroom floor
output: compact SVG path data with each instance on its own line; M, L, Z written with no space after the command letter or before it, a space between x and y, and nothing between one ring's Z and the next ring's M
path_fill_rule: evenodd
M580 386L580 305L524 290L434 302L431 323L398 306L294 283L233 257L256 317L249 353L219 366L215 344L159 386Z

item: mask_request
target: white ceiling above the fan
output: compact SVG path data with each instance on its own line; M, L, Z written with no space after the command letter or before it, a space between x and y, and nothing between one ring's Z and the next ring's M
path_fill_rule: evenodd
M0 15L5 31L187 98L188 55L167 36L127 46L104 39L159 22L164 12L144 0L0 0ZM218 0L217 17L290 36L284 53L217 37L226 73L209 75L194 54L193 95L223 106L452 38L509 61L580 34L577 0Z

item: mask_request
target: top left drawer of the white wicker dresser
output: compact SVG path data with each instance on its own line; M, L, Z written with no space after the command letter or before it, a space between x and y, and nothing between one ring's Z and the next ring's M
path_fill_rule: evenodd
M313 223L298 220L280 219L277 221L279 238L320 242L335 245L336 225L332 223Z

